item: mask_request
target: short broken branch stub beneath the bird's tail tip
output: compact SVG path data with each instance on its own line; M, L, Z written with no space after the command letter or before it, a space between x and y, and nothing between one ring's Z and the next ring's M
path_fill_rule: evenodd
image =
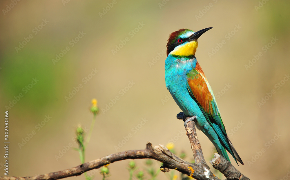
M250 180L238 171L229 161L215 153L215 158L209 161L213 167L219 170L228 180Z

